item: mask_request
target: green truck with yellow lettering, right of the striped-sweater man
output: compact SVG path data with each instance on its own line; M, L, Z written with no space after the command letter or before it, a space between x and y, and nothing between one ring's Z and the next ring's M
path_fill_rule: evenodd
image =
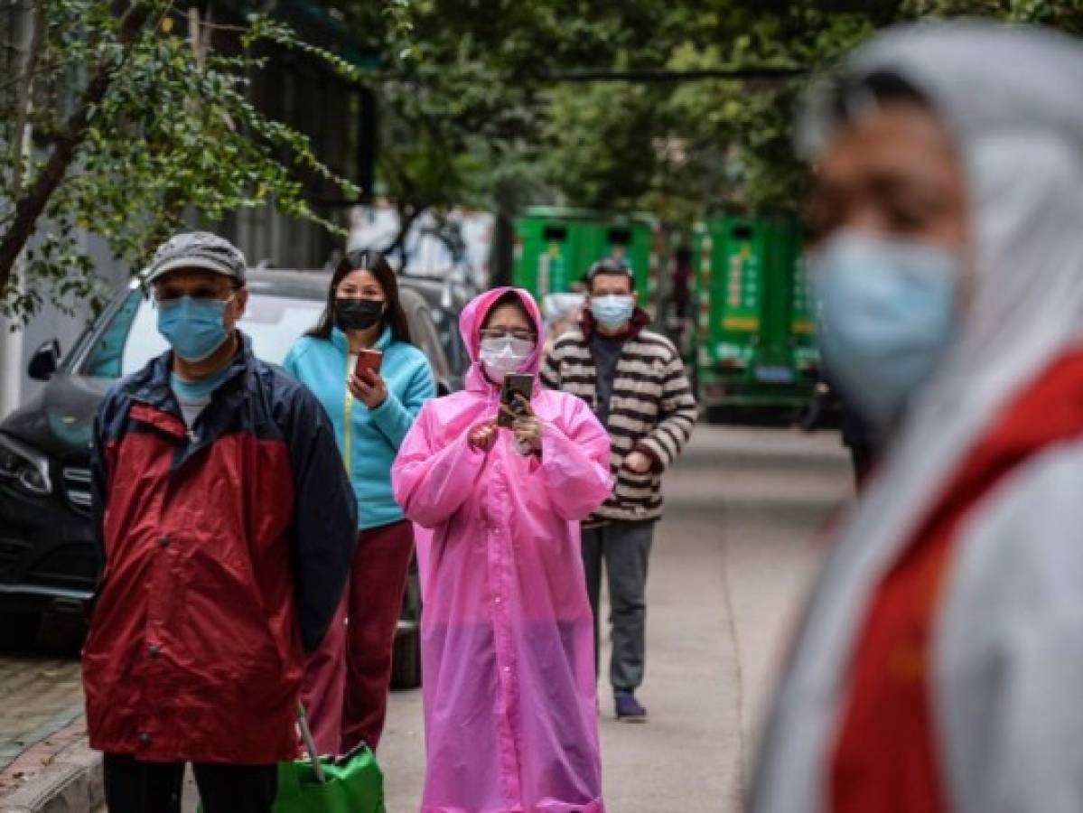
M716 419L795 414L820 366L799 223L720 215L696 233L689 360L701 405Z

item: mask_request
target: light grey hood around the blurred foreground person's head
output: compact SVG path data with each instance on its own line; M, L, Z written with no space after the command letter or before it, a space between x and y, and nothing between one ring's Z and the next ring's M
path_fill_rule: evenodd
M834 89L878 73L930 102L966 175L975 287L930 389L980 391L996 406L1083 327L1083 53L1068 37L991 22L896 29L810 94L809 158L831 137Z

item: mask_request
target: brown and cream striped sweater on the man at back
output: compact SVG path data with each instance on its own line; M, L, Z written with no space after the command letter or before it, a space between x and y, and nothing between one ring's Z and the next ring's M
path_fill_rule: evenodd
M546 353L542 383L578 395L598 411L598 368L590 352L586 324L561 336ZM613 494L587 521L656 520L662 516L662 474L692 434L697 417L695 397L684 365L673 342L648 330L624 343L613 380L608 430ZM654 460L645 474L623 468L634 450Z

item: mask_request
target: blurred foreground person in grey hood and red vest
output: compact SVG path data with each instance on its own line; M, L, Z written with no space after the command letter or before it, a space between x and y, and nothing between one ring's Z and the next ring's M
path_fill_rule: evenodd
M825 360L896 429L755 813L1080 810L1080 87L1078 41L969 22L879 37L813 95Z

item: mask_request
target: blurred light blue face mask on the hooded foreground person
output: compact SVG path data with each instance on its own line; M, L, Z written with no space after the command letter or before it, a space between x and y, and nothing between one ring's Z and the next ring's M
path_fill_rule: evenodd
M896 418L944 356L961 271L949 249L853 232L810 255L824 364L873 423Z

